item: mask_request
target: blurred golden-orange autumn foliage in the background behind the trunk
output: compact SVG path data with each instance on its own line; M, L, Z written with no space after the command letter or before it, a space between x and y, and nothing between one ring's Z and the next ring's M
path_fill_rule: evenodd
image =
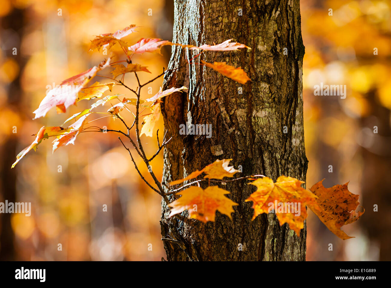
M61 125L88 107L82 101L66 114L52 109L45 118L32 120L46 91L105 57L102 51L88 52L90 40L130 24L140 26L142 33L128 36L128 43L141 37L172 40L172 1L2 0L0 17L0 201L32 203L30 217L0 214L0 259L160 260L161 197L140 179L114 135L82 133L76 147L54 154L50 143L42 143L17 168L10 167L34 140L32 131ZM361 221L344 228L356 236L348 241L308 210L307 260L391 260L391 3L302 0L301 29L307 183L326 178L323 184L331 187L350 181L349 189L360 194L366 208ZM122 53L119 46L114 51ZM163 47L162 54L142 56L151 75L167 67L170 47ZM141 82L150 78L140 74ZM130 74L125 82L136 86ZM346 85L346 99L314 96L314 85L321 82ZM160 85L159 80L151 84L153 94ZM116 90L127 92L119 86ZM117 129L121 123L104 118L95 125ZM161 117L157 128L162 138ZM142 141L145 152L154 154L156 139L142 136ZM151 180L145 165L139 167ZM161 178L161 155L152 167ZM108 212L102 212L104 204ZM375 204L378 212L373 212Z

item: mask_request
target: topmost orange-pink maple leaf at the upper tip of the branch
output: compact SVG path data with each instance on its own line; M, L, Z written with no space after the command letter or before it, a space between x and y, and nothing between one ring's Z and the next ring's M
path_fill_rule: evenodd
M130 25L122 30L117 30L115 33L100 34L99 36L96 36L95 39L91 40L90 50L92 51L97 49L100 51L102 47L110 49L116 43L119 43L121 47L127 47L127 44L120 39L133 32L136 32L136 28L136 25Z

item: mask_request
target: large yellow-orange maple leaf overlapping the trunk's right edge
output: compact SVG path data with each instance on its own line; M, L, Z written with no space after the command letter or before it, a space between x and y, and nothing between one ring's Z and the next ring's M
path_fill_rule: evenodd
M289 227L300 236L300 230L303 229L304 220L307 218L306 205L316 199L314 194L301 187L302 183L305 182L286 176L278 177L276 183L273 183L273 180L268 177L259 178L249 183L257 187L256 191L245 200L246 202L253 201L254 216L252 220L259 214L269 213L269 208L274 207L280 226L288 223ZM271 206L271 203L273 206ZM291 213L286 213L286 210L279 210L279 207L283 208L283 205L280 206L278 203L286 204ZM300 203L300 211L298 211L300 215L295 216L294 207L288 205L288 203L293 205L297 203L297 208L299 207L298 203Z

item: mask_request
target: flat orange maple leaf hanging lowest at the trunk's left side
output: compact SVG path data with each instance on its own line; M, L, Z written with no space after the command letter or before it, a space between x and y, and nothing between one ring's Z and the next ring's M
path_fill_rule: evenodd
M169 204L171 207L169 217L188 209L189 219L198 219L204 223L215 221L216 210L231 219L231 213L234 212L233 206L239 204L224 196L225 194L230 194L230 192L217 186L209 186L205 190L191 186L175 194L181 197Z

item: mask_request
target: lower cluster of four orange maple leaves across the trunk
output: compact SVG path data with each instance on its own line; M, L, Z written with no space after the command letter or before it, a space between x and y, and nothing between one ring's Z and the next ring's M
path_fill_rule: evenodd
M181 195L181 197L170 203L169 206L172 208L170 216L188 210L189 218L207 222L214 221L215 212L218 210L220 213L231 217L231 213L234 212L233 206L239 204L224 196L224 194L230 194L230 192L217 186L208 186L203 190L192 185L201 181L225 184L239 179L248 179L251 180L248 184L256 187L256 191L245 200L246 202L253 202L253 220L262 213L269 213L269 203L300 203L299 215L296 215L294 211L286 213L282 209L275 208L280 225L288 223L289 227L299 236L300 230L304 227L304 220L307 218L306 207L308 206L327 228L339 238L344 240L352 238L346 235L341 227L358 220L364 211L355 211L359 205L359 196L348 190L348 183L325 188L322 180L313 185L308 191L301 187L305 182L287 176L278 177L276 182L263 175L246 176L225 181L213 180L233 177L235 173L239 172L233 166L228 166L231 160L216 160L202 170L191 173L186 178L170 182L170 185L178 185L205 173L203 179L193 181L174 190L176 195ZM190 188L178 192L178 190L188 186Z

